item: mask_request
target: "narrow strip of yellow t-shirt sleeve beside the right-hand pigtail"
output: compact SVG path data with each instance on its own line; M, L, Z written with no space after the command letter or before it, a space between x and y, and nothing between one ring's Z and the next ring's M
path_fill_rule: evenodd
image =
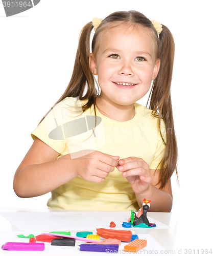
M161 130L163 139L166 143L167 142L167 133L166 133L166 129L165 129L165 123L162 119L161 119L161 123L160 123L160 130ZM157 147L156 147L154 158L153 158L152 163L150 165L150 169L160 168L160 166L158 166L158 164L162 160L163 154L165 152L165 144L162 141L162 138L160 136L159 131L158 131L157 134L158 134L158 136L157 136Z

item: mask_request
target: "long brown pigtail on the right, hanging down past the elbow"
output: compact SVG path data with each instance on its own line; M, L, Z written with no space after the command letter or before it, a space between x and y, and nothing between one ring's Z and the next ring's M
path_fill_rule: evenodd
M151 89L150 109L152 114L158 116L158 126L160 131L161 118L165 122L167 132L167 142L163 140L166 145L163 158L160 162L160 188L163 188L167 181L171 178L174 170L178 179L177 173L177 140L174 131L174 120L172 113L171 101L171 82L174 63L175 43L170 30L162 25L162 32L159 34L159 58L160 69L157 77L153 81ZM148 100L149 101L149 100ZM159 115L157 113L159 112ZM158 166L159 167L159 166ZM157 168L158 168L157 167Z

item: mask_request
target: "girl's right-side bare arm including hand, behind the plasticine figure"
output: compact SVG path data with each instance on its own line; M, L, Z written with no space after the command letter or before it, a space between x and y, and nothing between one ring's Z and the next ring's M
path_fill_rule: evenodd
M151 200L149 211L170 212L172 209L171 180L163 189L159 189L160 170L150 169L149 165L138 157L128 157L119 160L116 167L127 178L135 193L138 205L142 207L143 201Z

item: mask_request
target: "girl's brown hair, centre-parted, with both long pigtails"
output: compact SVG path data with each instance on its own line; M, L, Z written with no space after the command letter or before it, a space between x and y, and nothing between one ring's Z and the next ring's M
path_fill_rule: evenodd
M94 33L91 44L91 50L94 55L96 55L99 47L99 37L101 33L105 29L109 29L120 24L141 25L151 31L155 41L156 59L160 58L160 69L157 77L153 81L151 93L149 96L149 108L152 110L152 114L158 117L160 134L161 119L164 120L167 131L167 141L163 140L163 136L161 134L162 141L166 145L166 147L163 158L158 165L160 169L159 184L160 188L163 188L168 180L171 178L174 170L176 171L176 176L178 178L177 141L174 132L174 121L170 93L175 52L174 39L170 30L164 25L162 25L162 32L159 34L158 37L156 29L152 25L152 22L140 12L114 12L103 20L103 22L99 25L96 32ZM96 97L97 95L99 95L99 89L97 91L95 87L95 82L97 83L97 81L89 68L90 34L92 29L92 23L89 22L81 30L73 75L64 94L56 102L56 104L66 97L79 97L80 100L88 99L86 104L82 105L82 110L83 112L85 112L93 105L94 114L96 116L96 108L98 108L96 104ZM84 92L86 92L85 95Z

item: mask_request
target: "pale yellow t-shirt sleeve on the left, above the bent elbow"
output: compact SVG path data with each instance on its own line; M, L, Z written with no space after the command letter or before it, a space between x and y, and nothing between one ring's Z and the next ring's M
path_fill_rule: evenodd
M72 99L69 98L69 100L63 100L56 104L31 133L33 140L38 137L59 154L64 151L67 142L64 127L69 118L70 101Z

